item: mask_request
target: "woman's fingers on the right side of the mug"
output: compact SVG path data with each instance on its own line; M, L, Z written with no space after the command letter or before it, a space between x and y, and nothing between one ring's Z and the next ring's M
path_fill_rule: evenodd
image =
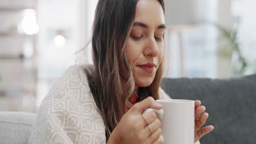
M200 129L203 126L203 124L205 124L206 119L209 116L207 112L203 113L206 110L205 106L202 106L202 105L200 106L200 105L201 105L201 101L196 100L195 101L195 142L197 142L199 139L201 139L202 136L210 133L214 129L212 125L208 125L207 127ZM202 115L200 116L201 113Z

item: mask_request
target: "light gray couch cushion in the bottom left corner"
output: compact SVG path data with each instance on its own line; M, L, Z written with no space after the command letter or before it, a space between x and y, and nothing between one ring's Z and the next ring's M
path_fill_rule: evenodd
M0 112L0 143L27 143L35 118L35 113Z

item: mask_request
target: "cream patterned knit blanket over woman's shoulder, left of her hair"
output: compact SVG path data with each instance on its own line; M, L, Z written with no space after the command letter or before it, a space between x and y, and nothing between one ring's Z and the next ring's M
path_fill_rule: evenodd
M69 67L55 81L39 107L28 143L78 141L106 142L104 122L81 65Z

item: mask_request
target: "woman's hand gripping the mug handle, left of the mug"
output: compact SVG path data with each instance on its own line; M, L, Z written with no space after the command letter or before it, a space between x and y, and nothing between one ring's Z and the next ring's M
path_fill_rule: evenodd
M162 143L161 122L154 111L143 113L148 108L159 110L162 105L152 97L133 105L113 130L108 143Z

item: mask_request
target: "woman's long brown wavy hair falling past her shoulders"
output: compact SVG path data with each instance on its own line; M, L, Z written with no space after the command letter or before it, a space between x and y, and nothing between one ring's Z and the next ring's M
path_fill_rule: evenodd
M126 105L130 104L127 99L134 92L135 80L125 55L125 44L135 19L137 1L99 0L95 11L91 39L94 65L86 68L85 73L98 112L106 125L107 140L127 111ZM164 1L158 1L165 11ZM162 66L163 63L159 65L150 86L139 88L137 101L149 95L159 99ZM126 77L122 76L121 67L127 71Z

